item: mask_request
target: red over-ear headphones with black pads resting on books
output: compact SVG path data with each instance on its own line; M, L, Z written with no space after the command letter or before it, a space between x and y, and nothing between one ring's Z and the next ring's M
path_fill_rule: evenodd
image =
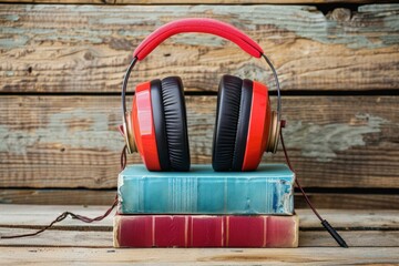
M203 32L225 38L248 54L263 57L277 85L277 112L272 111L267 86L224 75L217 94L212 165L215 171L252 171L263 153L277 150L280 127L280 90L277 73L259 44L238 29L213 19L182 19L155 30L134 50L122 85L123 127L129 153L141 154L150 171L188 171L190 151L184 90L178 76L136 86L132 111L125 92L132 69L160 43L182 32Z

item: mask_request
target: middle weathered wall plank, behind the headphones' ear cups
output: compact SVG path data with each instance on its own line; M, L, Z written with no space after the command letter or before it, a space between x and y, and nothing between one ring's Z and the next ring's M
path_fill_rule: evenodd
M209 163L216 98L186 101L192 162ZM398 96L287 96L283 104L305 186L399 187ZM119 96L1 96L0 187L115 187L120 112ZM264 162L284 162L283 153Z

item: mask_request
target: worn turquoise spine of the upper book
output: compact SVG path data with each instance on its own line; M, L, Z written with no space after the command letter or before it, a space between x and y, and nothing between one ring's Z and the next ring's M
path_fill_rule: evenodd
M121 214L294 213L294 178L119 176Z

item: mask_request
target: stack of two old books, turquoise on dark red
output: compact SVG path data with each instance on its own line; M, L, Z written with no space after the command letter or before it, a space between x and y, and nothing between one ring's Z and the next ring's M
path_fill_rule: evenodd
M115 247L297 247L295 175L284 164L256 172L149 172L119 175Z

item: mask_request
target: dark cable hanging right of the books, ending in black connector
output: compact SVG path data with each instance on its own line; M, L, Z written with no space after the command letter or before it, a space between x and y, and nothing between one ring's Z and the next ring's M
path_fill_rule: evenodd
M289 170L295 174L295 171L293 168L293 165L290 164L289 157L288 157L288 153L286 150L286 146L284 144L284 137L283 137L283 127L285 127L286 122L284 120L282 120L282 125L279 129L279 135L280 135L280 141L282 141L282 146L283 146L283 151L284 151L284 156L285 160L287 162L287 165L289 167ZM332 238L338 243L339 246L341 247L348 247L348 245L346 244L346 242L344 241L344 238L338 234L338 232L327 222L327 219L324 219L320 214L316 211L315 206L311 204L309 197L306 195L304 188L301 187L297 176L295 176L295 183L298 186L299 191L301 192L301 194L305 197L306 203L309 205L309 207L311 208L311 211L315 213L315 215L317 216L318 219L320 219L321 225L326 228L326 231L332 236Z

